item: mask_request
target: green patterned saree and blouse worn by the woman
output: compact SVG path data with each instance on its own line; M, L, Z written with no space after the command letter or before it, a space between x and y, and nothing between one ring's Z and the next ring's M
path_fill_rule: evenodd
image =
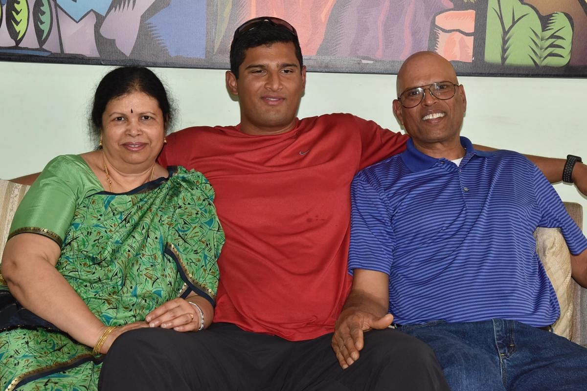
M214 305L224 243L214 191L199 172L169 171L117 194L79 156L57 157L23 199L11 236L55 240L56 268L105 325L144 320L190 291ZM0 390L96 390L102 358L9 298L0 276Z

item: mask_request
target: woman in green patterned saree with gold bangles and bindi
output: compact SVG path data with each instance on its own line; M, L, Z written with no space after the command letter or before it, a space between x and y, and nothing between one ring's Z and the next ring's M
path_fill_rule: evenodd
M19 206L0 276L0 390L96 390L141 327L210 325L224 243L202 174L156 162L171 108L149 69L100 81L96 151L49 162Z

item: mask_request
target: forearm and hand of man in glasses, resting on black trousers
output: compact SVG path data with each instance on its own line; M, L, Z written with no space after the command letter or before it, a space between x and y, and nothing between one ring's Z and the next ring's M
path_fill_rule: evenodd
M359 359L365 331L384 329L393 322L393 315L387 313L389 276L363 269L353 274L353 286L332 336L332 349L343 369Z

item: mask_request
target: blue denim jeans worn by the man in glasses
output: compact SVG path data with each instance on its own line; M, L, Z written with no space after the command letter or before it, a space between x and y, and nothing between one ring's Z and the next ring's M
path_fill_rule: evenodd
M403 325L436 353L453 391L587 390L587 348L517 321Z

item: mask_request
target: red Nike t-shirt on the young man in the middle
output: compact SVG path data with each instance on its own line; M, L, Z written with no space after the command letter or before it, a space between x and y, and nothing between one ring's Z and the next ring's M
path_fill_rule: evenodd
M277 135L191 127L159 162L202 172L226 234L215 322L291 341L332 332L349 293L350 182L407 136L350 114L296 120Z

